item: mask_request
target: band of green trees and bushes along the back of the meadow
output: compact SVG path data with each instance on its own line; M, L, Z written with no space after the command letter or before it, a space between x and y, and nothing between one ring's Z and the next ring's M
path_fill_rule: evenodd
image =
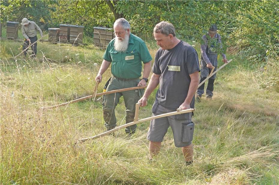
M153 27L169 21L179 39L200 41L211 24L218 26L224 48L227 46L258 53L263 59L269 51L278 54L279 1L29 1L1 3L1 21L28 17L44 29L59 24L85 26L93 35L94 26L113 27L124 17L132 33L151 39ZM275 49L274 49L275 47ZM255 49L256 48L256 49Z

